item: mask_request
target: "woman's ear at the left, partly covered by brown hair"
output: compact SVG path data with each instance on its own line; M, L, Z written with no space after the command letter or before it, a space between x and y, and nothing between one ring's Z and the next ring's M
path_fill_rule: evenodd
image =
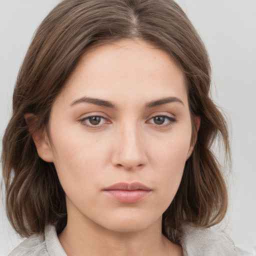
M32 113L25 113L24 118L28 125L28 130L32 134L39 157L46 162L53 162L52 147L45 130L35 129L37 117Z

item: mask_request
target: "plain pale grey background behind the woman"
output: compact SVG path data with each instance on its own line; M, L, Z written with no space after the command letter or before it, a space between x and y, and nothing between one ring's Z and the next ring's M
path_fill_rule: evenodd
M0 0L0 137L11 114L15 78L35 28L59 0ZM256 245L256 1L177 0L208 49L212 97L231 131L230 204L221 224L244 248ZM1 176L0 176L1 179ZM0 198L0 256L20 239Z

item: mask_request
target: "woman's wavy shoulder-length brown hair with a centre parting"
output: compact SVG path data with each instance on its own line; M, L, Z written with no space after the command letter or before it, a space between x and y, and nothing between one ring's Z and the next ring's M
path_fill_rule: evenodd
M163 213L162 232L178 243L184 224L208 227L222 220L227 189L211 146L221 139L228 156L225 119L209 96L207 51L186 14L173 0L63 0L36 30L19 70L12 117L2 141L6 211L18 234L27 237L67 221L65 193L54 164L37 154L24 119L33 113L34 130L45 129L52 103L81 55L91 46L142 39L166 51L184 73L194 149L177 193ZM196 134L194 117L200 117Z

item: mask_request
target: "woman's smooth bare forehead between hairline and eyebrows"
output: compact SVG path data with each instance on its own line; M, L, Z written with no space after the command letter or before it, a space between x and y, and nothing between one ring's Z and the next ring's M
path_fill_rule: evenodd
M87 50L61 93L66 99L84 94L120 102L131 97L187 97L183 72L171 56L143 40L130 39Z

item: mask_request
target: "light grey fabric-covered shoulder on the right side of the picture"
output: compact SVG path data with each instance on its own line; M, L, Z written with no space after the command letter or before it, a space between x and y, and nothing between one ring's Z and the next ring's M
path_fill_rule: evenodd
M184 256L248 256L224 232L216 228L183 227Z

